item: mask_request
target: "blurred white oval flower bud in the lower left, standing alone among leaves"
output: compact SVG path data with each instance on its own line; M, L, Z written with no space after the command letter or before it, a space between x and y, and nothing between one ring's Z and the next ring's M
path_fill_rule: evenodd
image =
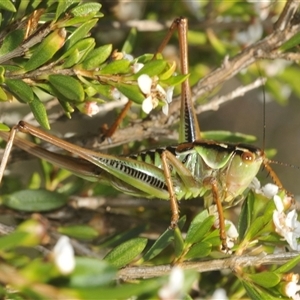
M61 236L53 248L54 263L59 271L70 274L75 268L74 249L67 236Z

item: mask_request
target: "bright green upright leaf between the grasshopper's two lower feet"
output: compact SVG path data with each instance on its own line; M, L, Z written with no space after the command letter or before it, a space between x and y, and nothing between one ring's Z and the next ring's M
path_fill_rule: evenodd
M214 216L209 216L207 210L204 210L198 214L188 229L185 243L193 244L203 239L213 226L214 220Z

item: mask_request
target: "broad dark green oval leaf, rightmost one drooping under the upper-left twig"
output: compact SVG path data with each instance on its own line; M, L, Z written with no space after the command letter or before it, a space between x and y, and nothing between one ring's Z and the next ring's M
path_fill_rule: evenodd
M67 75L50 75L49 82L65 98L70 101L82 102L85 98L80 82Z

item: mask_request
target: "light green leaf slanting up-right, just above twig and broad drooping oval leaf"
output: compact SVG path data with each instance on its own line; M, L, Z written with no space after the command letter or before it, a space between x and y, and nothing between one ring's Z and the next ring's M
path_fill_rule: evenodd
M102 47L92 50L82 63L82 66L86 70L92 70L98 68L104 63L112 52L112 44L104 45Z

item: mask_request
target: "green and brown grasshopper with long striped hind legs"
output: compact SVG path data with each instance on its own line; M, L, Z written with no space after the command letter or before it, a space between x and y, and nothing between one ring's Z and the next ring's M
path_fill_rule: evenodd
M158 52L161 52L176 28L181 45L182 73L188 74L186 19L178 18L173 22ZM18 131L45 140L79 158L52 153L17 138L15 135ZM125 194L169 200L171 228L175 228L179 220L179 200L203 197L207 208L216 205L223 249L227 248L223 207L230 207L243 198L243 192L262 165L271 174L274 183L282 188L263 150L249 145L201 139L188 79L182 83L179 144L174 146L136 155L113 156L75 146L24 121L14 126L10 134L0 132L0 136L8 141L0 166L0 181L12 145L15 144L75 175L107 183Z

